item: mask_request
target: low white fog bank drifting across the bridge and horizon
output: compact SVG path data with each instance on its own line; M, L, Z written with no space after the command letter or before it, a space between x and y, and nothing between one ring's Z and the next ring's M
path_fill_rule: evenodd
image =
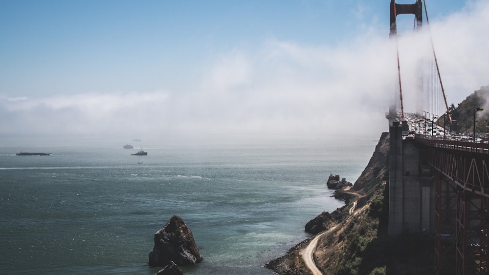
M481 1L431 22L448 104L489 85L488 13L489 3ZM431 51L426 34L417 36L399 40L407 112L415 111L416 61ZM185 91L0 94L0 134L154 140L378 136L387 130L385 112L397 96L393 44L382 32L335 47L277 40L263 41L259 50L236 46L202 66L197 79L189 77Z

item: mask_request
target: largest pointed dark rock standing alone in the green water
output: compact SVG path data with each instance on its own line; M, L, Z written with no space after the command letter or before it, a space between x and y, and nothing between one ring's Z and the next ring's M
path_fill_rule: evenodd
M166 266L173 261L178 266L195 265L203 260L190 228L174 215L155 233L155 246L149 254L150 266Z

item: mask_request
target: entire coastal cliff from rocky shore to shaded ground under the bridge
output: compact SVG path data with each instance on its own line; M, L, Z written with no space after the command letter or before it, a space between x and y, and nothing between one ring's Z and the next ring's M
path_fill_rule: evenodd
M332 217L323 232L336 226L331 233L319 237L312 254L315 265L323 274L434 273L432 239L417 235L387 235L388 179L389 133L385 132L355 185L335 191L335 197L345 200L346 205L331 215L319 215ZM301 256L309 242L310 239L304 240L286 255L268 262L266 267L280 275L311 274Z

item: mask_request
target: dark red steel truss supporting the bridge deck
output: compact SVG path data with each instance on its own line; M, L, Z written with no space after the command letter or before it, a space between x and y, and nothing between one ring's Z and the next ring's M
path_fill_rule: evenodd
M436 273L489 274L489 147L415 140L435 174Z

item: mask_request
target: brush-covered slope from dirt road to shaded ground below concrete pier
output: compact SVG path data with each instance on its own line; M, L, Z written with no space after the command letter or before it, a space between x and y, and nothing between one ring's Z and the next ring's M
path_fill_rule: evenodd
M369 164L355 183L364 196L341 228L318 242L316 259L324 274L381 275L434 273L434 241L427 235L388 235L389 135L383 133Z

